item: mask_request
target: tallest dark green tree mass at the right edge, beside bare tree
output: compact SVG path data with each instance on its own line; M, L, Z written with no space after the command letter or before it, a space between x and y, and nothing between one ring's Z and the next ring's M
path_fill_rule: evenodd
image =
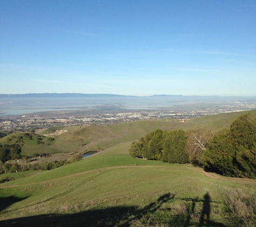
M204 167L227 176L256 178L256 119L245 114L216 134L204 154Z

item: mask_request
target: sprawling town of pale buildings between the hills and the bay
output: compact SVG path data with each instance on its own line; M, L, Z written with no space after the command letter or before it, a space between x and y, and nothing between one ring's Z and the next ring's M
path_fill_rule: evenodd
M79 111L53 111L45 113L31 113L23 116L0 118L1 131L35 131L52 126L72 126L72 125L109 125L133 122L135 120L146 119L174 119L179 122L202 117L215 115L225 112L237 112L256 109L255 103L244 104L236 103L229 107L216 107L205 109L190 110L157 110L157 111L120 111L102 112L86 114Z

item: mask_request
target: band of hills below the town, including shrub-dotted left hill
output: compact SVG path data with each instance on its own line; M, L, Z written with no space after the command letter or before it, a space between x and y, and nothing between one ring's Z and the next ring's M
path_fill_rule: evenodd
M256 117L256 110L250 112L253 117ZM195 127L211 127L213 131L219 131L225 127L229 127L231 122L243 113L245 112L223 113L220 115L195 118L186 122L164 119L140 120L114 125L73 126L62 128L66 132L55 136L51 133L60 128L53 127L43 131L39 130L38 133L40 132L40 136L30 133L32 139L24 136L25 133L12 133L0 139L0 143L19 143L22 145L22 154L28 156L34 153L85 153L89 150L105 150L120 143L140 139L156 129L183 129L187 131ZM43 136L47 133L50 133L49 136L55 140L50 141L49 138ZM40 138L41 140L38 140Z

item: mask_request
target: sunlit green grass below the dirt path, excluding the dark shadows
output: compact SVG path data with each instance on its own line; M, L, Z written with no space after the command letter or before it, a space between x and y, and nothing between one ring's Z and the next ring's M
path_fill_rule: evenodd
M53 171L50 172L53 174ZM164 211L167 211L170 216L167 222L170 222L174 217L170 210L184 202L190 205L196 201L196 214L200 215L203 197L207 191L211 196L212 212L214 212L212 220L224 222L222 198L219 196L220 186L246 187L223 180L212 180L187 169L186 165L103 169L67 179L39 182L35 185L17 188L3 188L1 197L15 195L24 200L11 204L2 212L1 218L32 216L32 219L36 219L39 214L68 216L74 213L117 207L136 208L139 211L148 207L146 216L153 215L154 219L162 222L163 217L167 215ZM255 191L255 187L250 187L250 189ZM174 195L174 198L161 204L161 201L159 202L161 196L168 193ZM157 203L161 204L161 207L153 212ZM150 213L151 211L152 213ZM138 212L131 213L130 220L140 216ZM182 219L182 221L184 220ZM68 222L68 224L71 223L72 220ZM87 224L90 226L89 223Z

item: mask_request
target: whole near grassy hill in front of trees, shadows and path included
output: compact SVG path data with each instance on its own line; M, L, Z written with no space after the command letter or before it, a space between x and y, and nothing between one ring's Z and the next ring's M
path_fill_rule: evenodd
M0 226L243 226L227 209L226 192L255 194L256 181L135 159L129 145L24 178L5 174L17 180L0 185ZM200 223L207 206L210 221Z

